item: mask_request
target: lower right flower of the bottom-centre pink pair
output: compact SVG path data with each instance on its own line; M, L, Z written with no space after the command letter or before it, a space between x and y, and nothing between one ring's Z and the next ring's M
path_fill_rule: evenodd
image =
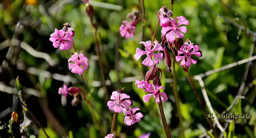
M129 109L126 113L124 113L124 123L128 126L135 124L136 122L140 122L143 117L142 113L136 113L136 111L140 110L139 107L134 107Z

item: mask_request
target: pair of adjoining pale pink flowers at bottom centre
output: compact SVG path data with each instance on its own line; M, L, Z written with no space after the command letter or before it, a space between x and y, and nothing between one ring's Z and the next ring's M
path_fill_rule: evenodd
M136 111L140 110L139 107L132 106L132 100L130 96L124 93L124 89L113 91L110 99L114 101L108 101L107 105L110 110L114 110L116 113L124 113L124 123L128 126L140 122L143 117L142 113Z

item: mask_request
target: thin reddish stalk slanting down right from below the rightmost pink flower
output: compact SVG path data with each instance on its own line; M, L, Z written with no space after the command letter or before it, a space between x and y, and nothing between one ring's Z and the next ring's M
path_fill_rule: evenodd
M186 74L187 74L187 76L188 76L189 83L190 83L190 85L191 85L191 87L192 87L192 89L193 89L193 91L194 91L194 93L195 93L195 95L196 95L196 98L198 99L198 101L199 101L199 103L200 103L200 105L201 105L201 108L202 108L202 110L203 110L203 112L204 112L204 116L206 117L207 114L206 114L206 111L205 111L205 109L204 109L204 104L202 103L202 100L200 99L200 96L198 95L198 92L196 91L196 87L194 86L194 84L193 84L193 82L192 82L192 77L191 77L191 75L189 74L188 71L186 72ZM212 130L213 130L213 132L214 132L214 136L215 136L216 138L218 138L218 133L216 132L216 129L212 126L212 121L211 121L210 119L206 119L206 120L208 121L210 127L212 128Z

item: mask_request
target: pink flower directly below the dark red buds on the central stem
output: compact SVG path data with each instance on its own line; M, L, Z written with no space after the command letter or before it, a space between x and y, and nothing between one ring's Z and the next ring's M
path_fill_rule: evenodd
M162 101L167 101L168 97L167 97L166 93L165 92L162 92L162 93L158 92L160 89L165 89L165 87L155 85L154 89L151 91L152 93L143 96L143 101L146 103L146 102L148 102L150 97L153 96L156 99L156 103L159 103L160 102L159 101L159 95L161 96Z

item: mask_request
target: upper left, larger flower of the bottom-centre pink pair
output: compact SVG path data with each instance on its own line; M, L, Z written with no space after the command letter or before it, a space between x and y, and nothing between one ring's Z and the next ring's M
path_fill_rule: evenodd
M130 96L125 93L118 93L118 91L113 91L110 99L115 101L108 101L108 108L110 110L114 110L116 113L122 113L123 108L128 109L132 104L132 102L126 98L130 98Z

